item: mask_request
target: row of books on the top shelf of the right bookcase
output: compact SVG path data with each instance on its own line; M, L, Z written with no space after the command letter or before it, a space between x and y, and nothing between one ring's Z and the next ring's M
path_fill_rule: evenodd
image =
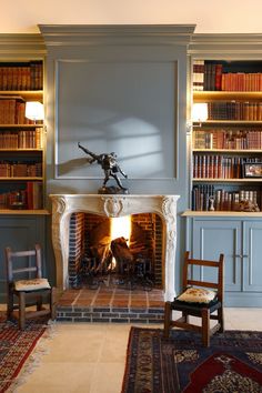
M223 64L195 60L194 91L262 91L262 72L224 72Z

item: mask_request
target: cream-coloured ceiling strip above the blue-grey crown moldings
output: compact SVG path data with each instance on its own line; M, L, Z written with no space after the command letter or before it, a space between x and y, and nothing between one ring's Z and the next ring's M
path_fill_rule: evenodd
M262 33L262 0L0 0L0 33L38 24L196 24L196 33Z

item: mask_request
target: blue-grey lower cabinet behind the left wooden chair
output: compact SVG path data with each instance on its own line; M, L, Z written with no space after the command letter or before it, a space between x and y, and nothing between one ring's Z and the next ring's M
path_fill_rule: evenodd
M27 250L40 243L46 250L46 216L34 214L0 214L0 302L6 301L6 260L4 248ZM43 260L44 261L44 260Z

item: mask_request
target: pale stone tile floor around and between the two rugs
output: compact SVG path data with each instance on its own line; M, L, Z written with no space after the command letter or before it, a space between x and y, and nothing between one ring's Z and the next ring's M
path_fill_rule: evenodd
M226 330L262 331L262 309L226 308L224 314ZM16 392L120 393L130 326L56 323L54 336L44 345L47 354Z

